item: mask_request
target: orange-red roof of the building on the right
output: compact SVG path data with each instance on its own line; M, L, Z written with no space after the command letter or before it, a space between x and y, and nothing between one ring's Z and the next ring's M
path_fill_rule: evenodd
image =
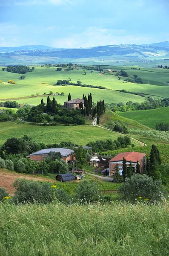
M137 163L137 160L140 161L145 156L146 154L135 152L135 151L124 152L124 153L117 154L117 156L113 157L109 162L123 161L123 157L124 157L126 158L126 161Z

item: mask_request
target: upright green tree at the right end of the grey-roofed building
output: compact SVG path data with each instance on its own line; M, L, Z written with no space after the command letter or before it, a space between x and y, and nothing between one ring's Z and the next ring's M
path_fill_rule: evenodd
M86 149L84 149L82 146L79 146L78 148L74 148L74 154L76 158L76 163L75 163L76 168L83 169L83 167L87 163Z

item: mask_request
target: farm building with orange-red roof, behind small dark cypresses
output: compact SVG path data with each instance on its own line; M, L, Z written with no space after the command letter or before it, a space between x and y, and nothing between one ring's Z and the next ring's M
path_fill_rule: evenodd
M136 171L137 160L140 164L140 173L146 168L146 154L139 152L124 152L120 153L117 156L113 157L109 161L109 176L112 176L115 173L115 165L118 164L120 175L122 175L123 171L123 157L126 159L127 168L129 168L130 162L132 163L134 171Z

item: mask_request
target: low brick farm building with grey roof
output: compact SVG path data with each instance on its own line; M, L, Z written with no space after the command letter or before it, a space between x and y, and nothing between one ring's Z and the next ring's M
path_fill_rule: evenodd
M32 160L37 161L43 161L48 157L49 152L60 152L62 155L62 159L65 160L67 163L68 161L74 161L74 151L72 149L67 148L46 148L41 149L37 152L34 152L30 154L28 157L30 157Z

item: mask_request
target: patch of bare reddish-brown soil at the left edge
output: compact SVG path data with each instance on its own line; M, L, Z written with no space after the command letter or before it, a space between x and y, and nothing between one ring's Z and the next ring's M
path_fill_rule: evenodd
M10 195L14 195L16 189L12 186L14 180L18 178L26 178L26 180L44 180L48 182L54 182L52 179L38 177L35 175L24 175L16 172L10 172L5 169L0 169L0 187L6 189Z

